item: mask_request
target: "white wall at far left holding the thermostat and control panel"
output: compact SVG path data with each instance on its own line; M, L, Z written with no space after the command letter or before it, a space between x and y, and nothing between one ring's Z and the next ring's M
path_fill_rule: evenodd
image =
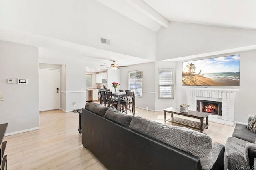
M0 41L0 72L0 124L8 123L7 135L38 129L38 47ZM27 78L28 84L17 84L17 78Z

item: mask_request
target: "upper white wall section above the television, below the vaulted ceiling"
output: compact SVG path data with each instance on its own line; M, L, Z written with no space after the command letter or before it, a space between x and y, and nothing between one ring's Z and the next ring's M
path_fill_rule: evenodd
M170 22L156 33L156 61L256 44L256 30Z

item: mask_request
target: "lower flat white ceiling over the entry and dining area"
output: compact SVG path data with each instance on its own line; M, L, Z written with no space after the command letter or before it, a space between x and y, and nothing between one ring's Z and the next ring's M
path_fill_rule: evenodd
M113 60L116 60L118 65L124 66L151 62L150 60L130 55L124 55L121 53L115 53L112 51L106 51L4 27L0 27L0 32L0 40L2 41L40 47L39 61L44 58L62 59L94 64L97 68L105 68L105 66L100 65L110 65L113 63Z

